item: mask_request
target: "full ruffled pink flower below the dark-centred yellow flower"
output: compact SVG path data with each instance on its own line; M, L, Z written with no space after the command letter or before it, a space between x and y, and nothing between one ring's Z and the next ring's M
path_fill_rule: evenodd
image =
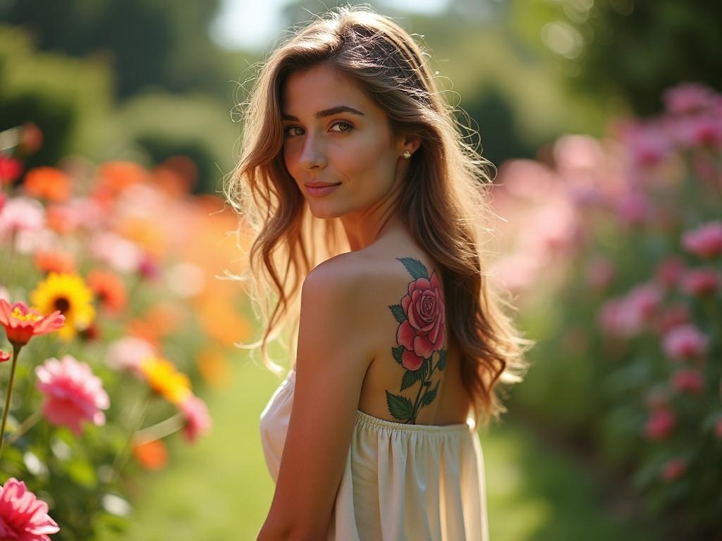
M38 390L45 395L43 415L49 423L67 426L76 436L82 432L82 421L105 424L100 410L108 409L110 398L90 366L66 355L61 361L48 359L35 374Z

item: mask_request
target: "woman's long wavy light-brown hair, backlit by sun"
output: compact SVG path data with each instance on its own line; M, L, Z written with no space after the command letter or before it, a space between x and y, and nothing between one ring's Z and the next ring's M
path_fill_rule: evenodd
M282 367L268 356L269 340L292 319L287 344L297 338L297 307L305 276L323 260L349 251L339 219L316 219L287 171L282 154L282 87L294 71L326 63L360 84L388 115L394 133L422 139L412 155L399 196L401 219L441 266L446 321L461 352L464 385L477 421L484 413L499 420L505 412L497 383L518 383L529 368L523 353L534 345L521 338L504 309L513 305L490 282L482 246L490 228L492 179L488 160L464 141L453 106L443 100L427 66L429 55L387 17L365 7L342 6L292 34L275 48L241 106L243 136L235 170L224 182L228 203L240 214L237 244L252 238L250 276L245 281L256 317L264 323L260 341L264 364ZM466 115L468 118L468 115Z

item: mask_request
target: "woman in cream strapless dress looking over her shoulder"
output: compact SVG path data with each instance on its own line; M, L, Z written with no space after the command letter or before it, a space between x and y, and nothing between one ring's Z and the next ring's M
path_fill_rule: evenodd
M474 427L504 411L495 384L521 381L530 342L484 275L485 162L427 55L335 9L271 53L245 106L225 193L256 232L274 370L266 343L298 314L261 415L277 485L258 540L487 540Z

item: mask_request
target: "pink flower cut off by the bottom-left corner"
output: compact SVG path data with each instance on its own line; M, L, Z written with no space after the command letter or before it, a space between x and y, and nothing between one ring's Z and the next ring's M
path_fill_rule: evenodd
M0 487L0 540L50 541L48 534L60 531L48 516L48 504L28 491L14 477Z

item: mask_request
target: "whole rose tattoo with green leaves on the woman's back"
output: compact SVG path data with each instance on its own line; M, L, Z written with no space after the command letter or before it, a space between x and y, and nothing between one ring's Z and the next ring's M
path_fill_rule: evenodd
M431 387L432 374L446 366L445 303L443 287L435 271L429 277L429 271L421 261L397 259L404 264L414 281L409 283L409 290L401 303L389 307L400 324L396 331L399 346L391 348L391 355L406 369L401 379L401 391L416 382L420 383L414 402L386 391L386 403L393 418L415 423L419 409L429 405L436 397L439 381ZM434 353L438 353L436 364L432 363Z

